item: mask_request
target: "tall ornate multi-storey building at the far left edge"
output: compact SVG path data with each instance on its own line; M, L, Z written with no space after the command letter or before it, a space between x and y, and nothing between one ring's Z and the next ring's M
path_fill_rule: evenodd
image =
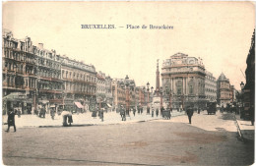
M11 107L31 113L35 105L36 55L32 40L18 40L7 29L2 36L3 113Z

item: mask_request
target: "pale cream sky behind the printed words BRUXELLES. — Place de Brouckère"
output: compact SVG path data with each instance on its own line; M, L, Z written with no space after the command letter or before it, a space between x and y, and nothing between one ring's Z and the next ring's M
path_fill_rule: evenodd
M128 75L136 85L150 82L155 87L157 59L161 66L162 60L181 52L201 57L206 70L217 79L223 72L240 89L255 7L251 2L7 2L3 28L12 30L15 38L28 35L34 45L42 42L48 50L93 64L111 78Z

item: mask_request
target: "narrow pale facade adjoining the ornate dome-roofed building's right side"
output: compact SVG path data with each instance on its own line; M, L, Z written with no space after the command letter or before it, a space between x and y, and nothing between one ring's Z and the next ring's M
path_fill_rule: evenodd
M207 101L217 101L217 82L212 73L206 71L205 94Z

